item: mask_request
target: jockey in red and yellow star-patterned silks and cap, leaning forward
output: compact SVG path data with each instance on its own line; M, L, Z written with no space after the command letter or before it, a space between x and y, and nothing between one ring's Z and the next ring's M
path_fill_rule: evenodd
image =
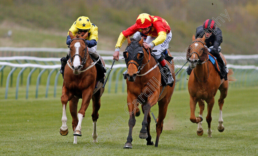
M161 17L151 16L147 13L140 14L137 17L136 23L134 25L120 33L115 45L116 49L115 53L113 54L113 59L119 59L119 49L121 48L122 43L128 36L132 36L136 32L141 32L143 35L147 36L146 43L143 43L144 48L153 48L153 50L157 50L153 53L158 62L160 62L162 67L166 69L165 71L167 71L165 73L165 77L167 78L166 83L171 84L174 80L172 78L169 67L161 53L168 48L168 43L171 40L172 33L167 21ZM139 38L139 33L136 34L134 35L135 39Z

